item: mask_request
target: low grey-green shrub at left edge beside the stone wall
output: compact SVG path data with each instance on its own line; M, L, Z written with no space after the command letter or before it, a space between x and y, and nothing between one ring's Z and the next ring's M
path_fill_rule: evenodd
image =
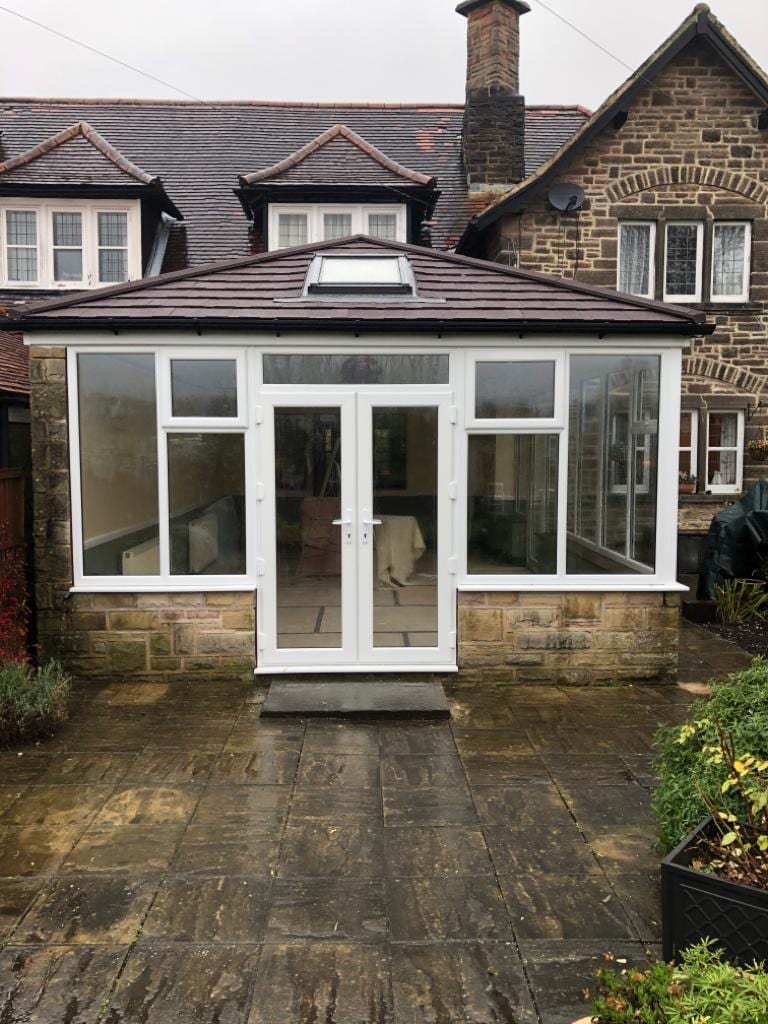
M57 662L0 665L0 745L50 736L69 714L71 686Z

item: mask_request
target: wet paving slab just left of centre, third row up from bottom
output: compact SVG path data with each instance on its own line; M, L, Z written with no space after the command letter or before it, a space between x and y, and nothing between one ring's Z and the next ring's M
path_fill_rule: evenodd
M382 829L348 822L289 825L283 837L281 879L380 879L384 874Z

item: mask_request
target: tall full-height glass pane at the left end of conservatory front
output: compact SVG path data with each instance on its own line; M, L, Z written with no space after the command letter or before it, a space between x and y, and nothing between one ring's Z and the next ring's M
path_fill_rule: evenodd
M157 575L155 356L78 355L83 567L86 575Z

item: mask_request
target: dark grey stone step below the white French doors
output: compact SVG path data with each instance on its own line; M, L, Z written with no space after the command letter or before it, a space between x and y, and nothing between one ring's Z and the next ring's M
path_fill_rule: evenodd
M262 718L451 718L435 682L273 682Z

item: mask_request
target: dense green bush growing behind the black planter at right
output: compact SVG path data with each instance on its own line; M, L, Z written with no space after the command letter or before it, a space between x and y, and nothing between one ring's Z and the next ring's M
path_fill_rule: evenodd
M659 824L658 850L669 851L709 813L708 801L738 815L737 795L721 794L728 777L723 764L712 763L708 746L727 733L738 752L768 758L768 660L757 657L749 669L714 682L712 695L691 708L690 723L664 726L656 734L655 768L659 786L653 809Z

